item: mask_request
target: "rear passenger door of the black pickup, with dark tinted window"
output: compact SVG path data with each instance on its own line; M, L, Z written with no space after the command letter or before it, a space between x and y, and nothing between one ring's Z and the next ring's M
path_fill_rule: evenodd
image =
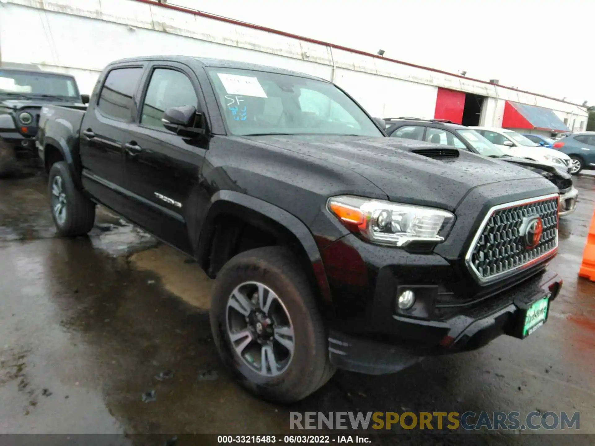
M115 66L100 80L81 124L80 157L85 189L126 215L123 144L133 114L143 64Z

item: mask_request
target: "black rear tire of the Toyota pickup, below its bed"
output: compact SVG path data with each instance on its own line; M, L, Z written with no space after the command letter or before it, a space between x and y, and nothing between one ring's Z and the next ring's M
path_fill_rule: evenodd
M64 194L64 217L57 215L54 205L54 181L62 184L61 193ZM58 230L58 234L63 237L77 237L89 233L95 223L95 203L89 200L74 185L70 169L65 161L60 161L52 165L48 178L48 194L51 203L52 218Z

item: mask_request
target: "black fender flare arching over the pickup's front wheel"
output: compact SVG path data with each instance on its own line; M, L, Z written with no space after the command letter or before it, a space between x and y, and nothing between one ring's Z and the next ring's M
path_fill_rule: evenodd
M196 250L196 258L201 261L208 255L209 241L212 235L212 221L223 213L226 209L226 203L233 203L243 208L250 209L265 218L271 219L291 233L300 243L312 267L312 274L318 285L318 291L324 305L325 312L331 309L331 292L328 285L327 275L324 271L324 264L318 245L314 236L303 222L292 213L265 202L255 197L231 190L217 191L211 197L208 208L205 210L205 218L199 234L199 242Z

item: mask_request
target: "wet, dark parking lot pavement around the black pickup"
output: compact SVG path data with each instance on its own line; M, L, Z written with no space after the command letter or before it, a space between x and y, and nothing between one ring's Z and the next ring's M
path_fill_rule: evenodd
M251 397L222 368L197 265L107 212L89 238L57 238L45 178L0 180L0 433L271 434L287 431L289 412L538 410L580 412L581 432L595 434L595 284L577 279L594 180L575 180L551 266L562 294L527 340L396 375L339 371L291 407Z

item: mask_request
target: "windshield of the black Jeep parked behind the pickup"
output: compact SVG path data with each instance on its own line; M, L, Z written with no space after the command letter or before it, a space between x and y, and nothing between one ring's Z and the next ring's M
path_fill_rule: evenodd
M80 98L73 78L48 73L0 70L0 94Z

